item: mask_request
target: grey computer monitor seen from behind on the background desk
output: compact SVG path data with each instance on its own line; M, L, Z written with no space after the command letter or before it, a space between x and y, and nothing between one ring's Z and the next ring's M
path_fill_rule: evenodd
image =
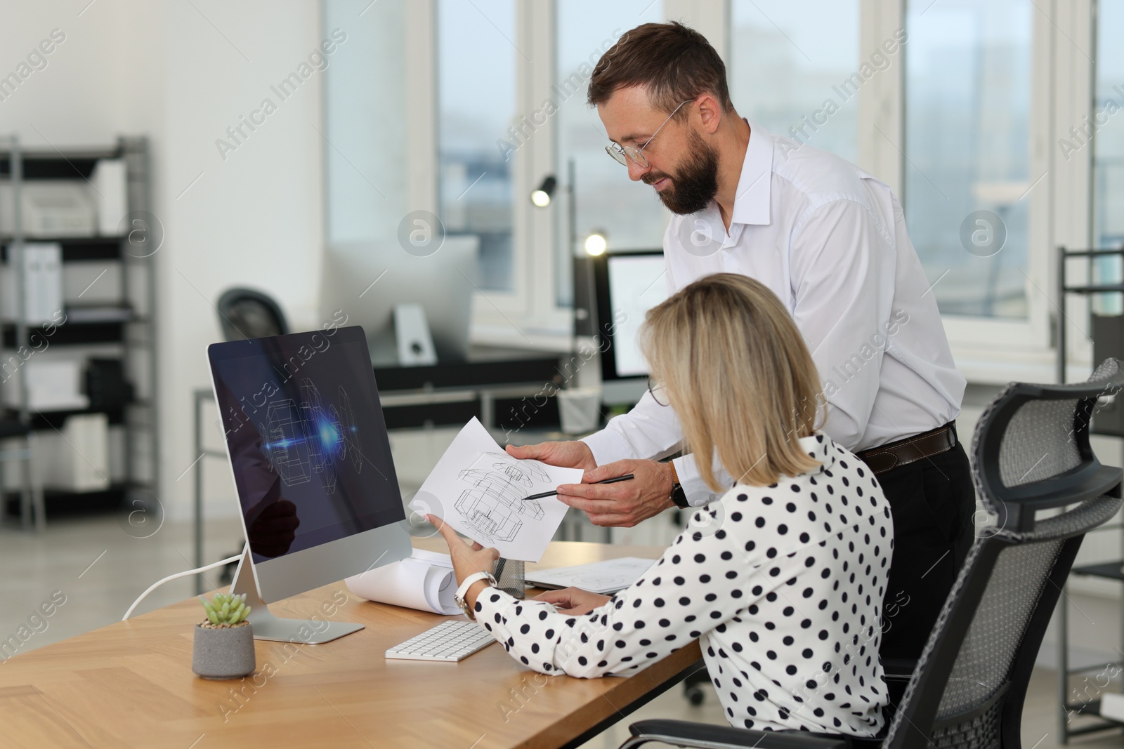
M469 350L469 321L479 281L480 238L446 236L428 255L411 255L398 244L332 243L325 252L325 320L336 310L368 334L371 362L399 364L393 312L400 304L422 304L439 363L463 362Z

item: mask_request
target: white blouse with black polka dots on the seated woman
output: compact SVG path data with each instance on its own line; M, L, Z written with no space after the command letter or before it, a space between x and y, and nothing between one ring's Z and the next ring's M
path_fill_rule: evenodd
M489 587L477 621L531 668L579 677L628 674L698 638L731 724L876 734L887 702L878 645L889 504L830 437L800 445L818 468L734 486L591 613Z

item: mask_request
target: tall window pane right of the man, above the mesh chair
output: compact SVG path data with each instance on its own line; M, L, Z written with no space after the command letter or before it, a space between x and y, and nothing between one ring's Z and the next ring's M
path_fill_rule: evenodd
M1040 176L1030 171L1034 4L908 0L906 8L909 235L942 312L1026 318Z

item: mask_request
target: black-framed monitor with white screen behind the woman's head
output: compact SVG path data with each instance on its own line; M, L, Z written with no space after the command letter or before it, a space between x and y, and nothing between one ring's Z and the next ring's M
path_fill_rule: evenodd
M605 254L593 258L598 332L601 344L601 400L635 403L647 389L647 362L636 335L650 309L668 298L663 252Z

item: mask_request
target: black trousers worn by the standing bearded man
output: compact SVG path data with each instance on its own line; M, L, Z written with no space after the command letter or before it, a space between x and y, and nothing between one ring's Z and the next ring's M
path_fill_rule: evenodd
M882 601L888 658L916 659L971 548L976 491L964 448L877 476L894 515L894 558Z

